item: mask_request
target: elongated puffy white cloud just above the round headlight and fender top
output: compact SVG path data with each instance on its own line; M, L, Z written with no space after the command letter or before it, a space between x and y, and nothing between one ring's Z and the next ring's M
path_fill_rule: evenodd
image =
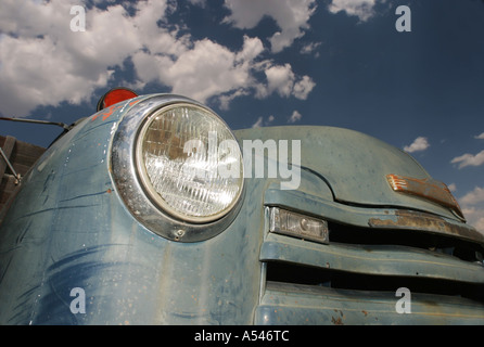
M290 64L273 65L256 57L264 51L258 38L244 37L240 52L208 39L195 41L193 47L182 51L179 56L166 56L161 53L137 52L132 62L140 81L143 83L157 80L180 93L201 102L217 95L220 106L237 97L246 95L254 90L259 99L272 93L280 97L305 99L315 83L308 76L297 77ZM258 81L254 74L264 72L266 81Z

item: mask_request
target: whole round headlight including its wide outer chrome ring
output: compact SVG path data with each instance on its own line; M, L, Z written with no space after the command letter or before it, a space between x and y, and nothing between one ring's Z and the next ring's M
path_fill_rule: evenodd
M151 97L123 116L113 137L111 174L132 216L173 241L220 233L244 193L242 154L232 132L213 111L179 95Z

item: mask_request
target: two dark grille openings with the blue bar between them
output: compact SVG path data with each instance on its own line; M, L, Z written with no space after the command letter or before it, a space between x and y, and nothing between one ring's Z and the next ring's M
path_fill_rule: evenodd
M264 285L393 293L408 287L412 293L484 303L484 249L480 244L428 231L359 228L334 221L328 222L328 245L269 232L262 250ZM373 269L373 264L384 271Z

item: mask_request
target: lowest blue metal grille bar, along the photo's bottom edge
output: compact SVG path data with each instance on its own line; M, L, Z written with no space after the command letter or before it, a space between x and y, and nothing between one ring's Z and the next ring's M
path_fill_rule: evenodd
M268 283L256 324L484 324L484 307L458 297L413 294L411 312L397 313L393 292L358 292Z

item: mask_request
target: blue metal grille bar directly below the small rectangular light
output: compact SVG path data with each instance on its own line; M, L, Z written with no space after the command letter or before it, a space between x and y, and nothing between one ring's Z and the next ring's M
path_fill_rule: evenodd
M484 267L425 249L403 246L321 245L270 234L262 261L285 261L352 273L431 278L484 284Z

